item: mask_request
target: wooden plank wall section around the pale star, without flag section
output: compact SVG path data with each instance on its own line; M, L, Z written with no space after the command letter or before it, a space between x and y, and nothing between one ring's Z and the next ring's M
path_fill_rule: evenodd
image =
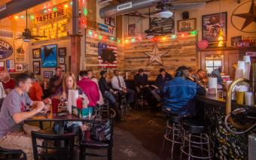
M181 65L192 67L196 71L198 69L196 42L196 36L192 35L175 40L157 41L157 47L160 51L169 51L169 53L162 56L163 66L157 62L148 65L149 57L145 55L145 52L151 52L154 49L153 41L145 40L126 44L124 47L123 71L129 73L129 78L133 78L138 69L142 68L152 80L157 77L161 67L166 68L166 71L172 75L175 74L175 69Z

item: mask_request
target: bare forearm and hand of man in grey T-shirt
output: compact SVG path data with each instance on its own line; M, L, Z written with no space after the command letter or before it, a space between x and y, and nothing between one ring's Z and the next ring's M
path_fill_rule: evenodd
M35 114L41 112L41 110L44 109L44 103L43 102L36 102L36 107L29 111L29 112L20 112L20 113L14 113L12 115L15 123L23 122L25 119L29 119L32 116L35 116Z

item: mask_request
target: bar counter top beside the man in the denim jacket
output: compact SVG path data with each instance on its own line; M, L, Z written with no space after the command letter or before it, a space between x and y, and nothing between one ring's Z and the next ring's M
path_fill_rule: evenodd
M226 101L224 99L218 98L218 95L197 95L196 97L197 101L203 101L206 104L212 104L216 106L226 107ZM254 106L248 106L245 104L236 104L236 101L232 101L232 110L235 110L236 108L244 107L248 110L249 113L256 115L256 105Z

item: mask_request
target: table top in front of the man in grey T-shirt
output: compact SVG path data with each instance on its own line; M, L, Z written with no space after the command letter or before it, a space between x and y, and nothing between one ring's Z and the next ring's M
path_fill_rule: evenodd
M26 119L25 122L38 122L38 121L81 121L88 122L92 119L81 119L78 116L69 114L68 116L55 116L53 113L38 113L35 116L32 116L29 119Z

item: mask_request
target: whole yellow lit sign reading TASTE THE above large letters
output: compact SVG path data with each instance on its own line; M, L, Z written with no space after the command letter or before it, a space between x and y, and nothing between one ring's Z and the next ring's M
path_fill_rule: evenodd
M35 18L35 27L32 28L32 35L41 35L45 38L38 38L39 41L46 41L55 38L62 38L68 35L66 25L68 18L66 9L59 9L48 14L39 15ZM56 20L62 17L61 20ZM47 21L49 21L47 23Z

